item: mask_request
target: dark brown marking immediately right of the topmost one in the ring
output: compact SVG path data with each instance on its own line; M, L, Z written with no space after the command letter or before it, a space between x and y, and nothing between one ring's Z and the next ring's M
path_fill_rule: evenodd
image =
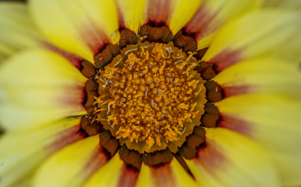
M184 52L197 50L197 42L193 37L185 35L182 30L179 30L177 34L172 37L172 41L175 47L182 49Z

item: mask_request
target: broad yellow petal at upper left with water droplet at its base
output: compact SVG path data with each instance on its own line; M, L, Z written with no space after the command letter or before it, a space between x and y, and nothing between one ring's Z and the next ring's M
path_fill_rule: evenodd
M90 62L104 44L119 40L114 1L30 0L29 8L52 44Z

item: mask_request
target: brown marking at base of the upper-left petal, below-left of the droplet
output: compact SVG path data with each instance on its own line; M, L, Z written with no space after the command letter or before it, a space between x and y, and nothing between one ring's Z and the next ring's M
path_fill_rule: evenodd
M118 45L108 44L94 56L95 65L99 69L104 70L104 67L110 64L113 58L118 54L120 54Z

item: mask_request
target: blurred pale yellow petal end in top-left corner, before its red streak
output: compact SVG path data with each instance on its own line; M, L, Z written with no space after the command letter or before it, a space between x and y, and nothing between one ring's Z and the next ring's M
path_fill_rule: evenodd
M42 37L30 20L24 3L0 2L0 25L0 59L20 49L42 44Z

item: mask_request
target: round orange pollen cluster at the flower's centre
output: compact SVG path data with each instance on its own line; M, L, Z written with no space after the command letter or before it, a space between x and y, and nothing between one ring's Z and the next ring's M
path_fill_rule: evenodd
M95 97L95 120L107 123L116 138L148 148L179 140L200 112L193 101L202 88L193 55L156 43L107 65L100 76L102 94Z

